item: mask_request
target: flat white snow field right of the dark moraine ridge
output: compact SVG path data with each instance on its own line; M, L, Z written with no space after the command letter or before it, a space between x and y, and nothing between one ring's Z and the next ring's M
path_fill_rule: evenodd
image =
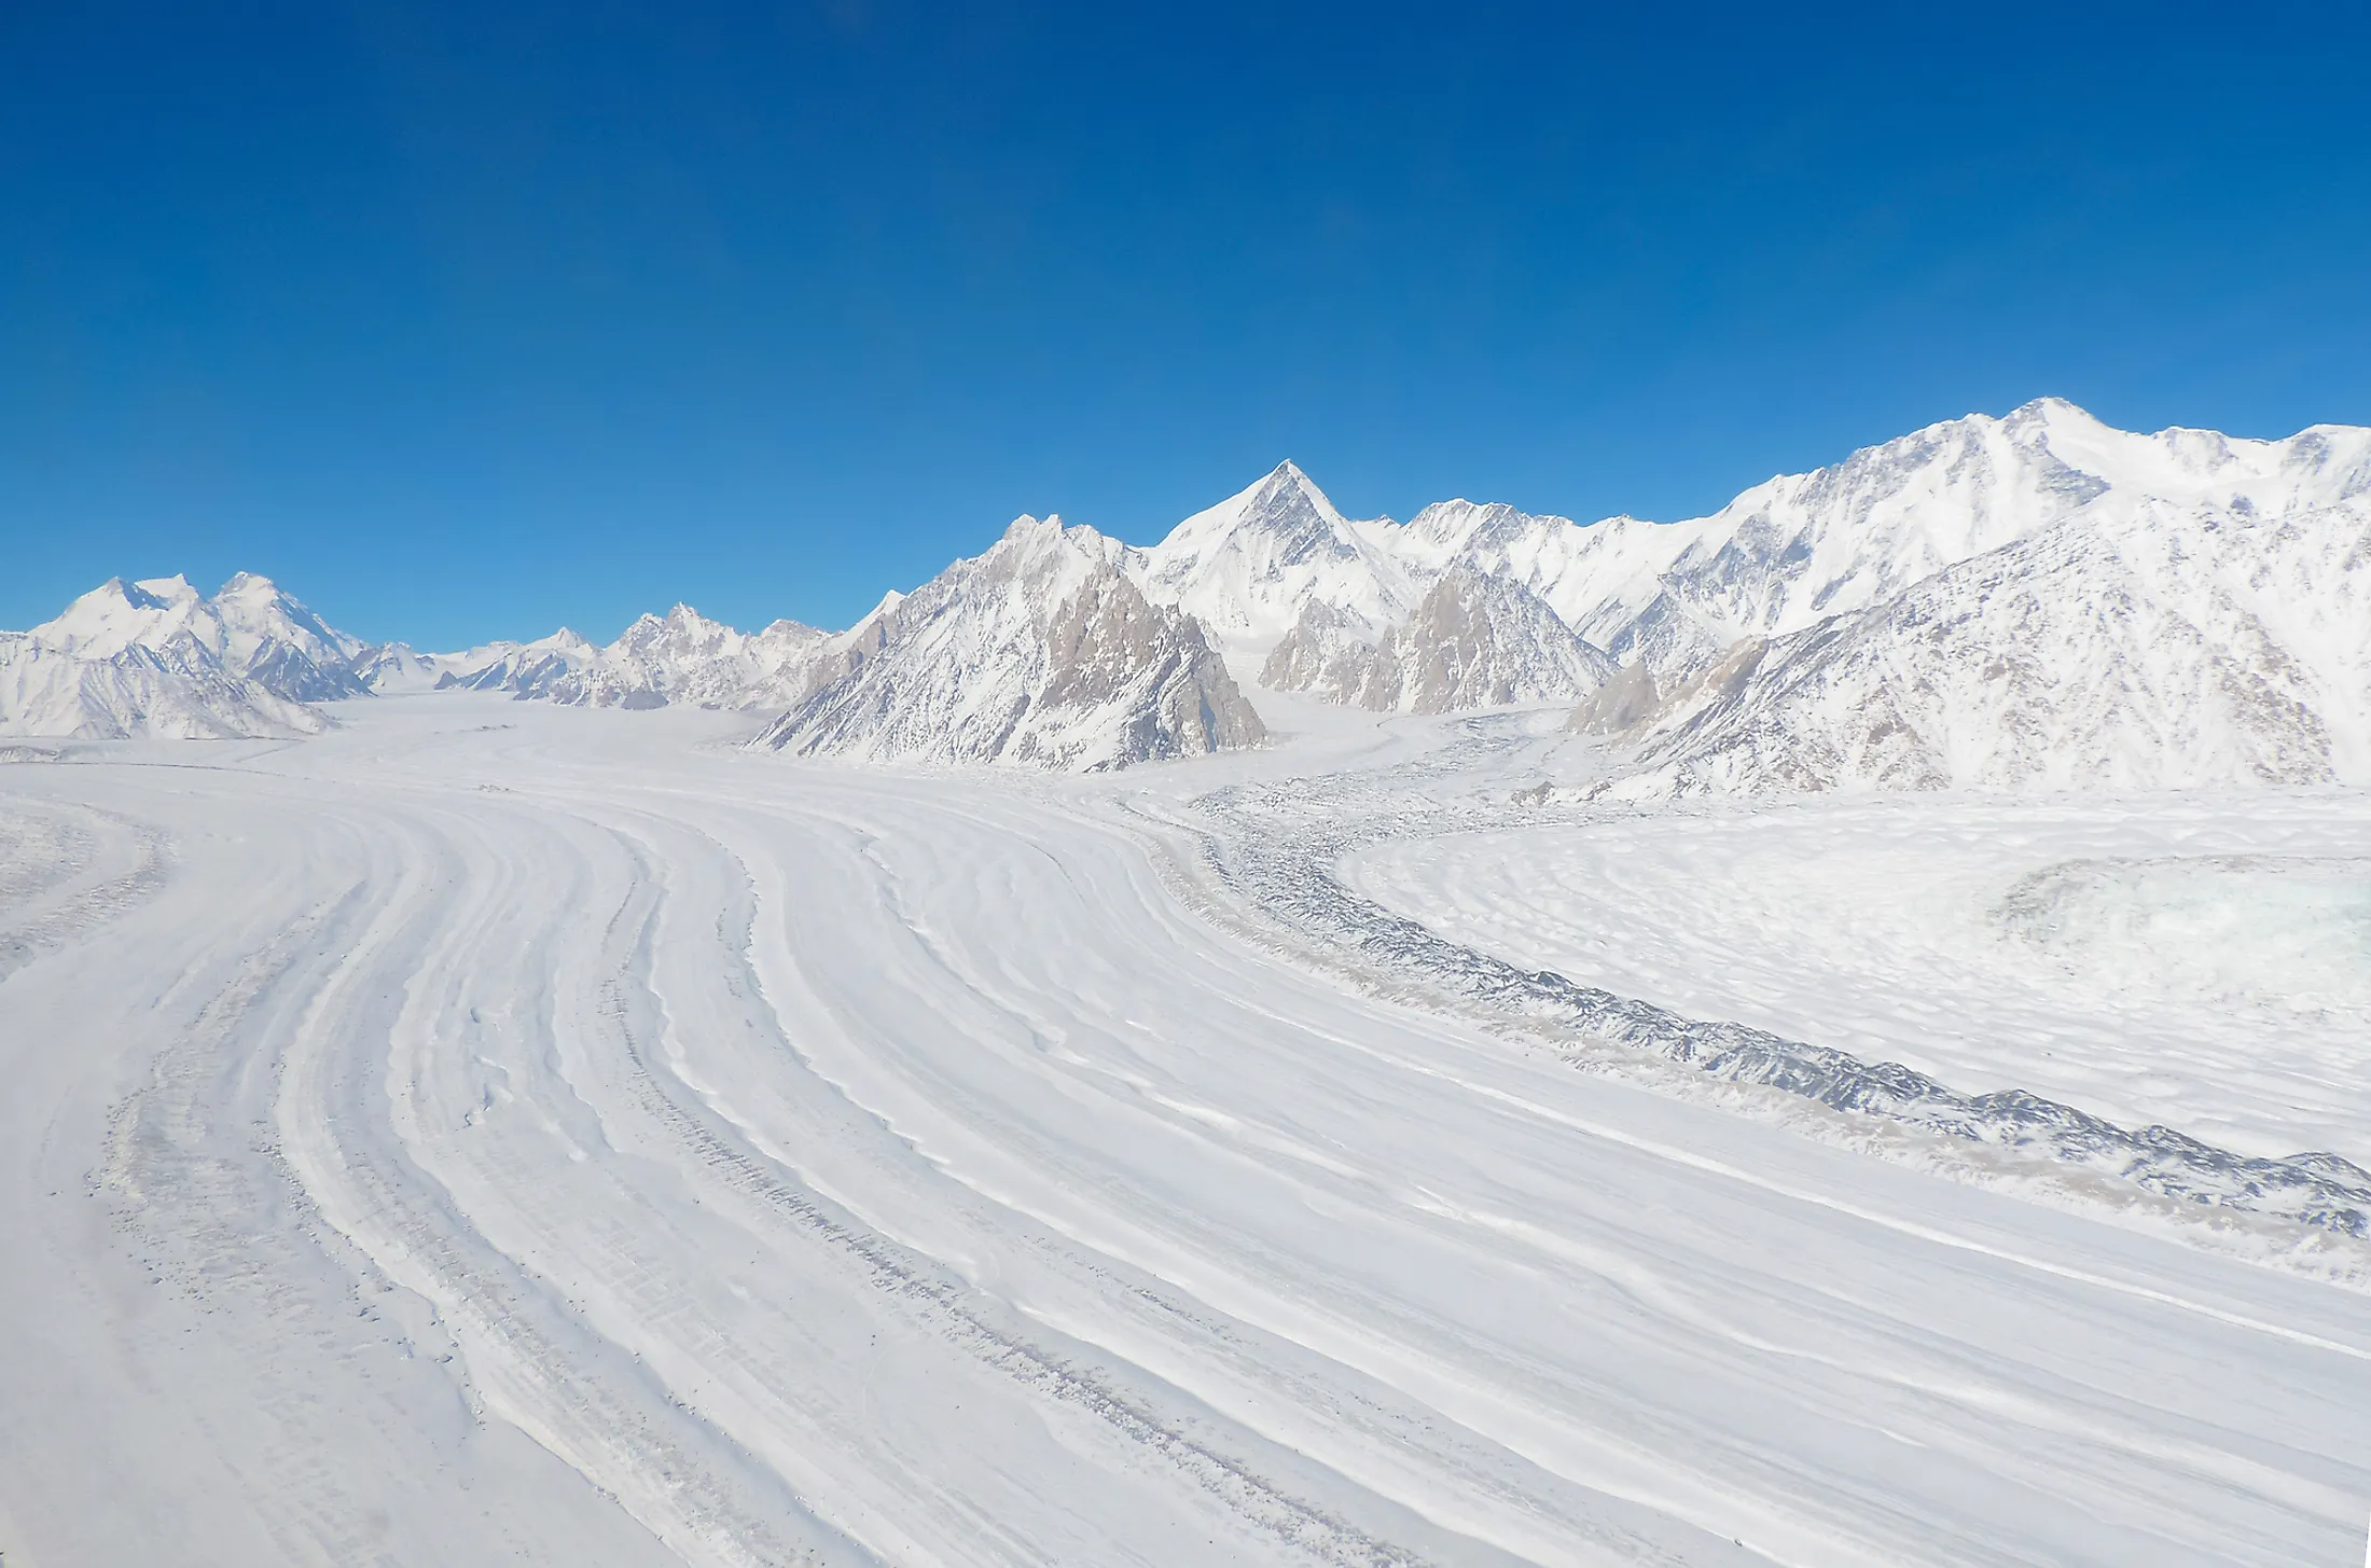
M2371 795L1814 797L1394 840L1378 904L1688 1018L2371 1167Z

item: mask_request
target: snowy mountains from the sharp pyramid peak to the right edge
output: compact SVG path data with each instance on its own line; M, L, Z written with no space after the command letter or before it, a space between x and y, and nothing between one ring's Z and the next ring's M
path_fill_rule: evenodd
M1140 572L1268 688L1579 697L1624 792L2371 783L2366 498L2371 429L2132 434L2044 399L1672 524L1351 522L1285 465Z

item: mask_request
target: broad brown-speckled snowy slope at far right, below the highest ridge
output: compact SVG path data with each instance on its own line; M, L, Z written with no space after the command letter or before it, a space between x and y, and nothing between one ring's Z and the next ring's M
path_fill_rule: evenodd
M2371 785L2371 498L2072 517L1743 643L1615 792L2316 783Z

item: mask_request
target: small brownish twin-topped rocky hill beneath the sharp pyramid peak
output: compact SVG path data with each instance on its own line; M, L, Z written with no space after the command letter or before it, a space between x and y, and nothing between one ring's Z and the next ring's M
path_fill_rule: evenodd
M1385 631L1323 600L1302 605L1259 683L1378 712L1449 714L1579 702L1615 671L1529 588L1456 565Z

